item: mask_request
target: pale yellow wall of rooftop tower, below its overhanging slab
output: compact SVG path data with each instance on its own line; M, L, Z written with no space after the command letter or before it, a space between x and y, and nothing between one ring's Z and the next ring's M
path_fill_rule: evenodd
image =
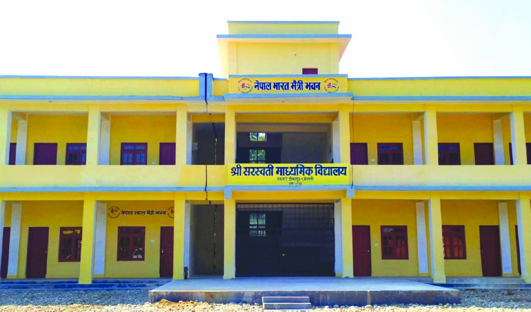
M330 57L339 54L337 43L238 43L236 50L231 75L300 75L303 68L318 68L319 74L338 73L338 64L332 64Z

